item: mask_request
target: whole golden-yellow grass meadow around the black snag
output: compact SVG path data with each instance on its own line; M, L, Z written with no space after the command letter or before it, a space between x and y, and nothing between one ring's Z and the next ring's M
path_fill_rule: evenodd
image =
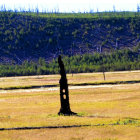
M103 73L67 75L71 110L78 116L57 115L59 75L0 78L0 128L36 128L0 129L0 139L139 139L140 71L105 75L105 80Z

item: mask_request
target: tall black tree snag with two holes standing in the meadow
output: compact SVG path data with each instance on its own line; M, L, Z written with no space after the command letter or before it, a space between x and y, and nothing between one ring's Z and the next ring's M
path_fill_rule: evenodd
M60 102L61 102L61 108L59 111L59 115L76 115L76 113L72 112L70 109L69 104L69 90L68 90L68 84L67 84L67 77L66 72L64 68L63 61L61 59L61 56L58 57L58 64L60 67Z

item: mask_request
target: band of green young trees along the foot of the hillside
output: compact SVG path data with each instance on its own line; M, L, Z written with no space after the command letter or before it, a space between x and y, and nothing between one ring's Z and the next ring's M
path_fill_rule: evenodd
M109 54L84 54L63 56L67 73L124 71L140 69L140 47L134 50L119 50ZM21 65L0 65L0 76L24 76L57 74L57 59L46 63L44 58L37 62L24 61Z

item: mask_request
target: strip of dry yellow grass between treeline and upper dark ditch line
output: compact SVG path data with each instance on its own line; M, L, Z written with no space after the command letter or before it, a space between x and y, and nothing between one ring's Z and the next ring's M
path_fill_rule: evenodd
M96 83L96 82L114 82L114 81L134 81L140 80L140 71L125 72L106 72L104 81L103 73L80 73L67 74L69 84ZM59 75L43 76L19 76L19 77L2 77L0 78L0 88L24 87L24 86L42 86L58 85Z

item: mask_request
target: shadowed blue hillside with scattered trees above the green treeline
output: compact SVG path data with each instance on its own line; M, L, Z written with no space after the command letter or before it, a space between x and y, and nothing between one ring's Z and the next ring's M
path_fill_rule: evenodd
M4 64L132 49L139 41L139 13L0 12L0 62Z

